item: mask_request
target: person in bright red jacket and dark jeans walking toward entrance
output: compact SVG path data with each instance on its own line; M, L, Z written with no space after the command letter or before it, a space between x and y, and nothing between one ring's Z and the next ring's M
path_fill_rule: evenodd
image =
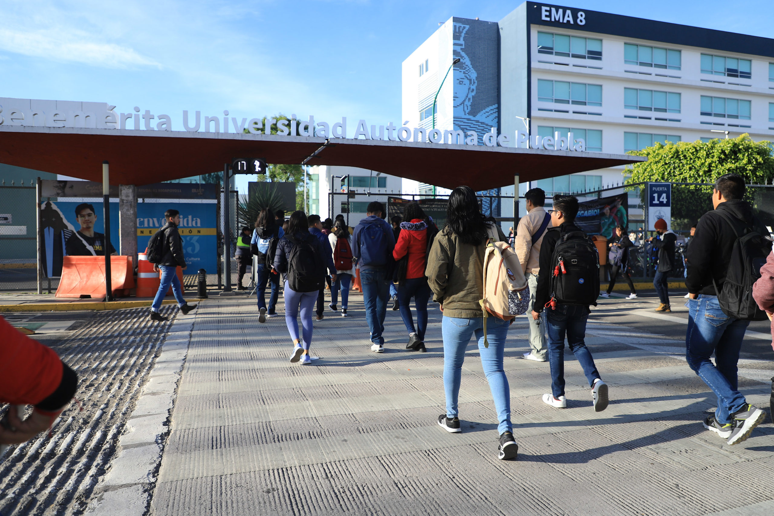
M433 245L437 232L435 224L426 217L419 203L406 205L392 258L397 262L400 316L409 331L407 350L426 351L424 340L427 329L427 302L431 292L427 285L425 268L427 252ZM411 298L414 298L416 307L416 327L409 306Z

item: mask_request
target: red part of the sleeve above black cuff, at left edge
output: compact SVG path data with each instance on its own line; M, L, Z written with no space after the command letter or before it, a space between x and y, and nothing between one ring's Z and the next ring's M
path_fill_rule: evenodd
M22 335L0 316L0 403L37 405L61 382L57 352Z

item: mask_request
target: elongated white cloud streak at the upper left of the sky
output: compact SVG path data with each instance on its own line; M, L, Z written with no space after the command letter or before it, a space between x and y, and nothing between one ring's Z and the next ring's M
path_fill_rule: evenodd
M78 31L59 29L20 31L0 28L0 49L25 56L89 64L95 67L160 67L159 63L131 48L90 41Z

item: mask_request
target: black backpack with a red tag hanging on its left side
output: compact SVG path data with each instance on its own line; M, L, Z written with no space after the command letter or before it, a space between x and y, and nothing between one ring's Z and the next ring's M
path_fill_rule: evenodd
M599 251L583 231L560 230L551 264L552 301L561 305L594 305L599 296Z

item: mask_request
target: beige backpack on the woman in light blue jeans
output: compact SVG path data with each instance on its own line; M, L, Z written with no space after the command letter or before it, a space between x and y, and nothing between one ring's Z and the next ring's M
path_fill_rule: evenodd
M488 316L513 320L515 316L526 313L529 306L529 287L519 257L509 244L498 241L497 229L491 224L487 228L487 236L484 254L484 295L478 302L484 314L485 347L489 347L486 338Z

